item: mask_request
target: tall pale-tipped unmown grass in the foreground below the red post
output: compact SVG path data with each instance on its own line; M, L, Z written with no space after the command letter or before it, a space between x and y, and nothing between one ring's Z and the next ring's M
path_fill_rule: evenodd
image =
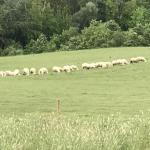
M72 118L49 113L0 117L1 150L144 150L150 113Z

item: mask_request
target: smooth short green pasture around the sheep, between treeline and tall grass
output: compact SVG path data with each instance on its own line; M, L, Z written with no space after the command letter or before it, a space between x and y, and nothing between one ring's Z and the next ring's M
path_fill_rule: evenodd
M110 61L144 56L147 63L111 69L0 78L0 113L53 112L61 100L65 115L133 115L150 109L150 48L108 48L1 57L0 70Z

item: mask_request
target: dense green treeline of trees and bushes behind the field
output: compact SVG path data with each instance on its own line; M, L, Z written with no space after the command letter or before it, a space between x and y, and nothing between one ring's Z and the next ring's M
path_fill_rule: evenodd
M0 55L150 46L149 0L0 0Z

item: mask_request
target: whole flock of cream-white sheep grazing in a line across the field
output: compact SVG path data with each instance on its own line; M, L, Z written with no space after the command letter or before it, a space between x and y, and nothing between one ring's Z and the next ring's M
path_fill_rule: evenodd
M143 56L139 57L132 57L130 58L130 61L127 61L126 59L117 59L113 60L112 62L96 62L96 63L83 63L82 69L93 69L93 68L111 68L116 65L128 65L132 63L139 63L139 62L147 62L147 60ZM72 71L78 71L79 68L76 65L66 65L63 67L53 67L52 72L72 72ZM15 69L14 71L0 71L1 77L6 76L20 76L20 75L44 75L48 74L48 69L43 67L37 70L36 68L24 68L23 70Z

